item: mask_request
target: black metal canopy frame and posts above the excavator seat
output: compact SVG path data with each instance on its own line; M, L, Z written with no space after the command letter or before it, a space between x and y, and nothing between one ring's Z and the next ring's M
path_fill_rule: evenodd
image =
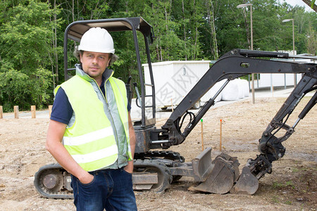
M120 31L132 31L133 40L135 43L135 53L137 56L137 68L139 71L139 82L141 84L141 98L142 98L142 120L141 124L138 126L140 128L150 127L155 124L155 87L154 87L154 78L151 67L151 57L149 51L149 44L152 43L154 39L154 33L151 25L149 25L143 18L111 18L111 19L100 19L100 20L79 20L68 25L65 30L64 35L64 73L65 80L69 79L71 76L68 75L68 72L75 70L74 68L68 68L68 39L79 42L82 35L89 30L91 27L101 27L108 32L120 32ZM151 78L151 94L145 95L145 82L142 71L142 63L139 53L139 42L137 39L137 31L142 32L145 41L145 50L147 53L147 63L149 64L149 74ZM145 98L151 97L152 105L145 106ZM149 121L145 115L145 108L152 108L152 119Z

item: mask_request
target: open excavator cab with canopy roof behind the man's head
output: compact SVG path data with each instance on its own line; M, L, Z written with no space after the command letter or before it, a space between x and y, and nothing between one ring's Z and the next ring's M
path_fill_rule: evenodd
M139 72L139 88L140 91L137 91L138 93L138 101L140 102L139 108L141 109L141 120L135 122L135 125L138 127L150 127L155 124L155 89L154 89L154 78L152 74L152 68L151 68L151 58L150 58L150 51L149 51L149 45L152 44L154 40L154 32L153 28L149 23L147 23L143 18L111 18L111 19L101 19L101 20L79 20L74 23L71 23L68 25L68 27L65 30L64 34L64 75L65 80L68 80L70 77L72 77L75 74L75 68L73 61L73 55L72 52L74 50L74 45L70 44L70 41L75 41L77 43L80 42L80 39L87 30L89 30L91 27L101 27L106 29L110 34L116 35L116 33L122 33L122 32L132 32L132 37L134 41L135 46L135 63L137 65L137 71ZM140 53L140 41L141 36L138 36L138 34L142 34L144 37L144 53ZM119 34L120 35L120 34ZM116 41L116 40L114 40ZM116 46L115 46L116 47ZM124 50L124 49L123 49ZM69 56L71 55L71 56ZM142 56L145 55L146 58L143 58L144 60L147 60L147 63L149 64L149 74L150 74L150 84L145 84L144 81L144 74L142 70ZM132 95L130 93L130 80L126 83L127 88L130 94L129 100L131 103ZM150 87L151 94L145 94L145 87ZM151 105L145 105L151 104ZM147 110L147 113L146 113ZM151 115L149 115L151 114Z

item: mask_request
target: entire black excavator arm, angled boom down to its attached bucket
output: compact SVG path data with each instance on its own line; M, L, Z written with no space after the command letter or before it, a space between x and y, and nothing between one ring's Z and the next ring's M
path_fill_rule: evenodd
M259 58L262 57L262 58ZM309 110L316 105L317 92L313 95L310 101L306 104L298 119L292 126L287 124L287 120L298 105L299 101L309 93L317 89L317 71L316 64L299 64L279 60L267 60L268 58L289 58L288 53L268 52L268 51L249 51L242 49L234 49L221 57L200 79L194 88L189 91L189 94L180 102L174 112L170 115L166 124L162 129L165 129L164 136L169 137L167 143L162 143L162 148L168 148L171 145L178 145L185 141L187 135L194 129L196 124L201 120L204 114L214 105L215 99L230 82L230 80L250 73L302 73L302 79L294 88L285 103L273 117L268 127L263 132L259 139L259 152L255 159L249 159L247 165L243 167L242 174L236 179L234 186L230 189L231 193L247 193L253 194L259 186L259 179L264 174L272 172L272 162L282 158L285 154L285 147L282 142L287 140L293 133L294 128L300 120L302 120ZM194 115L188 110L192 108L194 102L198 101L216 82L226 79L226 82L218 90L218 92L207 101L199 112ZM182 122L186 115L190 115L190 120L183 131L181 131ZM277 137L276 134L284 130L285 134ZM216 160L214 160L216 161ZM218 160L217 160L218 161ZM237 170L237 166L234 167ZM226 173L228 174L228 172ZM220 177L220 173L215 170L211 172L211 177ZM210 180L210 179L209 179ZM204 181L198 191L213 192L210 188L211 183L208 179Z

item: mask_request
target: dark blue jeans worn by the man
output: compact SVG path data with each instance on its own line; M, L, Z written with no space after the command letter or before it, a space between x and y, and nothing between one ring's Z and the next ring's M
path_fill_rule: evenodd
M89 173L94 175L89 184L82 184L72 175L74 204L78 211L137 210L132 174L123 168Z

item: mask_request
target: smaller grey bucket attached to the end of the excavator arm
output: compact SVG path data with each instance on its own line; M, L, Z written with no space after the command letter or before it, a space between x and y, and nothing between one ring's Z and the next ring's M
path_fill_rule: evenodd
M230 193L240 194L254 194L259 188L259 180L254 177L249 167L245 166L242 168L241 175L237 180L235 186L230 190Z

